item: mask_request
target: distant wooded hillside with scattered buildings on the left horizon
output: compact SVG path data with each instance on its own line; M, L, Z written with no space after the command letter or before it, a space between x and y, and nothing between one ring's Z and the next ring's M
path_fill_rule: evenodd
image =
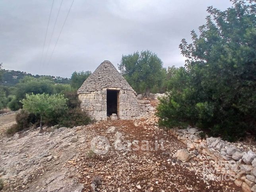
M23 79L26 76L31 76L34 78L50 77L54 80L55 83L61 83L61 84L70 83L69 78L61 78L61 77L45 76L45 75L39 76L39 75L28 74L26 72L21 72L21 71L4 70L3 69L3 78L2 78L2 82L0 82L0 85L14 86L16 83L19 82L19 80Z

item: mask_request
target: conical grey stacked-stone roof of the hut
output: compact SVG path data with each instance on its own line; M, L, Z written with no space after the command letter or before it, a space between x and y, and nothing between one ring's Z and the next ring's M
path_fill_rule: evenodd
M110 61L102 62L78 89L78 94L88 91L99 91L104 88L121 88L130 90L136 94L124 77L116 70Z

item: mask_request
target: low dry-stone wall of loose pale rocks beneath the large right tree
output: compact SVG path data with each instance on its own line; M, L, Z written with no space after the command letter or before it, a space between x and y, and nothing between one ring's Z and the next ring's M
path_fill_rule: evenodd
M201 139L197 128L173 128L169 132L187 145L190 155L205 159L215 170L229 175L244 192L256 192L255 147L231 144L220 138Z

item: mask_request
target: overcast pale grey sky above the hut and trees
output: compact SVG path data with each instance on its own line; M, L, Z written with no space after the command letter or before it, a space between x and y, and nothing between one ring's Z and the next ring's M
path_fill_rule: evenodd
M117 67L122 54L147 49L165 67L182 66L178 45L205 23L207 6L231 6L229 0L74 0L47 65L72 0L63 0L49 43L60 3L54 0L40 64L52 0L0 0L0 63L5 69L70 77L75 70L94 71L104 60Z

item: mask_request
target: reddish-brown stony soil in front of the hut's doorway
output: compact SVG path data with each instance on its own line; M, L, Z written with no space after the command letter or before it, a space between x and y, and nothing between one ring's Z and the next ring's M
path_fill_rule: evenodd
M115 127L114 132L107 133L107 129ZM84 191L91 191L91 183L95 176L101 176L101 184L97 185L97 191L240 191L235 184L225 181L204 181L204 162L199 159L190 159L188 163L182 163L173 159L172 155L178 149L186 148L186 145L170 136L164 130L155 125L155 120L117 120L98 122L78 134L106 137L111 148L105 155L93 155L88 157L91 139L81 147L81 155L73 159L69 166L75 166L78 178L84 184ZM142 146L142 140L149 142L149 150L138 151L121 150L114 147L116 132L123 136L122 140L138 140ZM165 140L164 151L155 150L155 137L157 140ZM158 144L160 144L158 142ZM141 189L138 189L140 185ZM139 188L140 188L139 187Z

